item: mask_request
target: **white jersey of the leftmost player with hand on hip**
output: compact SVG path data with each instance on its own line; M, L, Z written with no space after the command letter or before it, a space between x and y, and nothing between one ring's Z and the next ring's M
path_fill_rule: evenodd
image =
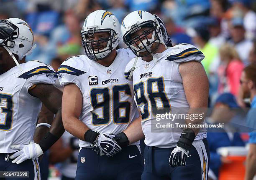
M28 93L35 84L54 85L53 68L29 61L0 75L0 153L13 153L10 145L33 141L41 101Z

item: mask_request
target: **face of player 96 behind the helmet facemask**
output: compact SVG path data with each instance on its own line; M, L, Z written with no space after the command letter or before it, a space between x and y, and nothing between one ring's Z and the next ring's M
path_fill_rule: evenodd
M92 49L96 52L107 47L109 39L109 32L95 32L93 35L88 36L88 41L92 41Z

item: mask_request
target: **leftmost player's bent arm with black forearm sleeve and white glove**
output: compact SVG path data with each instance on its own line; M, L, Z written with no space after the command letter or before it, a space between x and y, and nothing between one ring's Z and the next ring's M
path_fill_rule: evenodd
M12 163L20 164L24 160L40 157L46 150L48 150L64 133L65 129L61 120L61 99L62 92L49 84L37 84L33 88L28 90L29 94L34 97L38 97L43 104L53 112L55 115L54 121L51 124L50 130L44 135L44 138L39 143L30 142L28 145L11 145L10 148L19 150L10 156L10 159L14 159ZM47 110L46 110L47 111ZM50 118L46 118L46 122L51 121ZM41 119L40 121L43 121ZM38 129L39 130L39 129ZM41 129L44 131L43 129ZM39 132L40 133L40 132ZM43 134L43 133L42 133ZM38 132L36 133L36 136ZM40 135L41 136L41 135ZM40 138L37 136L37 138ZM38 140L37 140L38 141Z

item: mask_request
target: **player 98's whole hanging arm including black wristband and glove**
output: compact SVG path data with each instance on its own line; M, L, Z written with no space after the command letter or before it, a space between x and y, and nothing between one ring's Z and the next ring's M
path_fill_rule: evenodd
M201 114L204 112L208 103L208 79L203 66L196 61L184 62L179 65L179 73L182 77L184 92L189 103L189 114ZM203 112L202 112L203 111ZM202 124L204 118L197 120L186 120L187 124ZM195 140L200 128L184 129L177 142L176 148L172 150L169 164L172 167L185 166L189 150Z

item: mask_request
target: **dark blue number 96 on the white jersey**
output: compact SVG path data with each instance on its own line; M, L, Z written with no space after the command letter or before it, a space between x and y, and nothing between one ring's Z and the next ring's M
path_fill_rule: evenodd
M109 88L94 88L91 90L90 97L92 107L94 110L101 109L101 116L99 113L92 112L93 125L107 125L111 119L110 111L113 112L113 122L115 124L123 124L129 122L131 103L128 101L121 101L120 92L131 96L131 88L128 84L113 86L113 109L111 110Z

